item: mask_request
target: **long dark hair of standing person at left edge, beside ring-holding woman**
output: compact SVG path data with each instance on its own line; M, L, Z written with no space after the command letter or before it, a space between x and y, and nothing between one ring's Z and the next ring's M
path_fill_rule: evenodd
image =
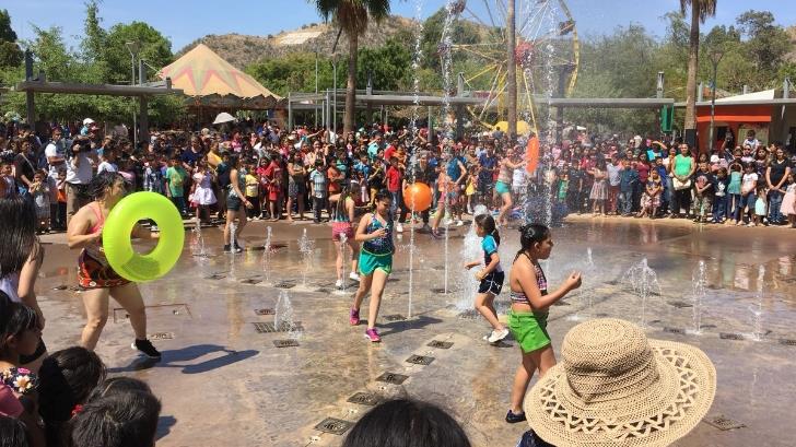
M27 259L39 256L36 205L20 196L0 199L0 278L19 272Z

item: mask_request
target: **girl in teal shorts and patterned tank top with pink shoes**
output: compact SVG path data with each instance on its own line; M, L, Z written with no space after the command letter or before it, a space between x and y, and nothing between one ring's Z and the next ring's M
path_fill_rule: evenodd
M351 326L360 324L360 306L367 291L371 291L371 304L367 309L367 330L365 337L376 343L382 341L376 330L378 306L387 277L393 271L393 216L389 207L393 196L386 189L375 196L376 211L367 213L360 220L354 239L362 243L360 250L360 289L354 295L351 308Z

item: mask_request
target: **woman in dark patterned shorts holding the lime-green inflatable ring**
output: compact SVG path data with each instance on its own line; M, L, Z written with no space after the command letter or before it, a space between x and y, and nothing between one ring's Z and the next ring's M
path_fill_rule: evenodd
M85 290L83 306L87 321L80 338L80 344L94 350L105 322L108 320L108 295L118 302L130 317L136 333L132 348L150 358L160 358L161 353L147 340L147 310L141 292L136 283L121 278L108 263L102 247L103 226L110 210L125 197L125 179L118 173L103 172L89 184L94 201L78 210L67 228L70 249L79 248L78 280ZM157 239L159 235L136 225L131 236L142 239Z

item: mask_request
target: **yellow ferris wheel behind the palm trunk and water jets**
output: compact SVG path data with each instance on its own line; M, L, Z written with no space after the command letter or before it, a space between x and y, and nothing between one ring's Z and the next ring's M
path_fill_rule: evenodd
M542 120L534 96L572 93L577 82L581 44L564 0L514 1L517 115L529 130L538 133ZM483 104L469 111L473 120L484 126L507 116L506 2L455 2L458 20L469 21L481 30L480 42L454 40L450 49L470 60L464 64L464 81L471 95L483 98Z

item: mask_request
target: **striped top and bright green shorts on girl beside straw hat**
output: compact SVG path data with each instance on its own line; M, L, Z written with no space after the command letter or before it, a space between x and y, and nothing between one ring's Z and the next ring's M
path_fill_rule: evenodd
M527 255L526 255L527 256ZM547 278L539 264L534 263L536 272L536 285L541 295L547 295ZM510 296L512 303L530 305L530 299L524 292L512 291ZM512 337L519 343L523 353L532 352L550 344L550 334L547 331L548 310L508 313L508 330Z

